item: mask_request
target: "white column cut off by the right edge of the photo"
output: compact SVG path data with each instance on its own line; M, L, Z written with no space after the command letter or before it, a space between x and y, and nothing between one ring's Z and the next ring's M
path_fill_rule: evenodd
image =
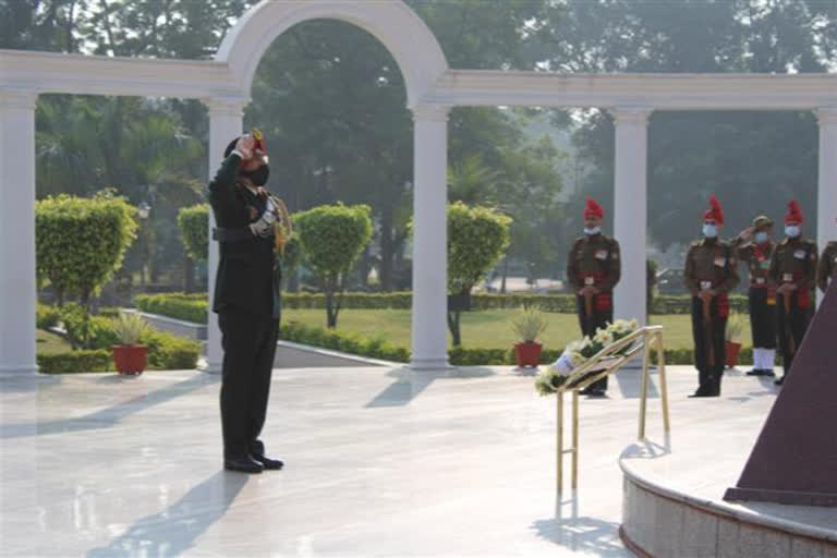
M822 252L837 240L837 107L816 111L820 122L820 172L816 191L816 244ZM817 302L823 293L816 290Z

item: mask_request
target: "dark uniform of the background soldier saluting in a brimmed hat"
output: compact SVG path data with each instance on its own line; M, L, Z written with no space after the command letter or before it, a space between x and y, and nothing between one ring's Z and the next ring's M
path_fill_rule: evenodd
M774 245L736 242L737 257L750 272L748 306L754 349L776 349L776 283L768 274Z

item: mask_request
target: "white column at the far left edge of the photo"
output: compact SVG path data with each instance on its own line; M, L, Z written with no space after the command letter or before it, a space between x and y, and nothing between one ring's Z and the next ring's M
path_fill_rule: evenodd
M0 374L33 374L35 359L35 102L0 89Z

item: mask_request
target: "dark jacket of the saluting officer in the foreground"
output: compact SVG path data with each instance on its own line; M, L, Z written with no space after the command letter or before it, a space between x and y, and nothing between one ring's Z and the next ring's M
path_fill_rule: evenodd
M241 158L231 154L209 182L209 204L218 227L245 228L265 210L265 196L236 183L240 166ZM220 258L213 311L234 306L252 314L278 317L280 269L274 253L274 236L218 244Z

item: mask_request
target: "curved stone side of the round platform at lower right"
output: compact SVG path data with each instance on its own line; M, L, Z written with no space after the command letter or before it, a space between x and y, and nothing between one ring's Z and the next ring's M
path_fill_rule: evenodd
M837 531L707 500L643 477L620 459L619 536L640 557L837 557Z

